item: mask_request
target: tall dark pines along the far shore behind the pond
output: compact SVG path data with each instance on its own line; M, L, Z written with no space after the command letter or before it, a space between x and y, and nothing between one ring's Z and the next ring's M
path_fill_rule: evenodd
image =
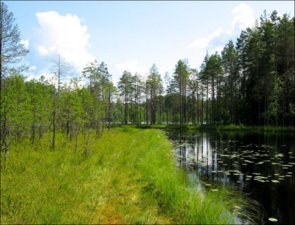
M200 70L182 59L164 81L156 65L146 79L123 72L115 110L124 119L114 121L294 126L294 25L294 17L264 11L235 45L207 52Z

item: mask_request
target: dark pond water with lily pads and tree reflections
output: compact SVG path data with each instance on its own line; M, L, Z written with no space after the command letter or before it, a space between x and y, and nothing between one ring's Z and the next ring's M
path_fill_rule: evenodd
M177 166L191 177L227 183L249 194L266 224L295 224L295 134L168 132ZM269 218L278 219L271 222Z

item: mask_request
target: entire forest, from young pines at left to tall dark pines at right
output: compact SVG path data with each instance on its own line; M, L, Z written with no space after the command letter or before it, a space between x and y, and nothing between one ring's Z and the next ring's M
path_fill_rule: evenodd
M153 64L146 78L125 70L113 84L106 63L90 62L79 79L63 82L70 65L58 57L53 79L26 80L13 66L29 50L19 44L13 13L1 3L1 145L13 139L56 132L77 139L87 130L122 124L295 125L294 17L276 10L229 40L221 53L207 54L200 68L188 59L173 75ZM162 79L164 77L164 79Z

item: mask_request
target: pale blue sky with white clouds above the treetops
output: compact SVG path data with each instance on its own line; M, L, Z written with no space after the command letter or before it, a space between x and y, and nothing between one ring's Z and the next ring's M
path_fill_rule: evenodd
M113 81L123 70L146 76L156 64L164 77L180 59L200 68L206 51L221 52L264 10L294 17L294 1L4 1L30 53L29 78L50 77L57 52L72 77L104 61ZM68 77L70 78L70 77Z

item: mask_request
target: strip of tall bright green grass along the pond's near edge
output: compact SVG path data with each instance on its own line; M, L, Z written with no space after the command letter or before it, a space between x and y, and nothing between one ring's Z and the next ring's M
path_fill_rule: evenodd
M175 222L234 224L238 214L251 223L257 219L252 218L253 215L256 214L259 219L257 203L239 192L216 186L208 192L200 193L196 186L189 183L184 171L175 170L175 164L170 160L171 155L168 152L169 144L157 140L163 134L155 136L151 130L147 134L145 138L148 148L153 150L146 151L145 160L141 162L141 170L148 180L145 189L157 198L161 210L173 217Z

